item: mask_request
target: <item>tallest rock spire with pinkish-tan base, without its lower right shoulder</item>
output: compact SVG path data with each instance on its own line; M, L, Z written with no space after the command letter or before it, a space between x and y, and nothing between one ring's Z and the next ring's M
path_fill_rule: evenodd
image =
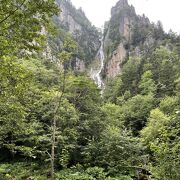
M121 63L126 57L127 44L131 39L131 26L135 18L134 7L127 0L120 0L111 9L111 19L105 27L104 50L105 74L115 77L121 72Z

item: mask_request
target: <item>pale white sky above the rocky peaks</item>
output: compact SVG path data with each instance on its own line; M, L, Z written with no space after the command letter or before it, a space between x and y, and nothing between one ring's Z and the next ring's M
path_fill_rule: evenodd
M71 0L76 8L82 7L87 18L96 27L102 27L110 18L111 7L118 0ZM180 34L180 0L128 0L136 13L143 13L151 22L160 20L166 32L172 29Z

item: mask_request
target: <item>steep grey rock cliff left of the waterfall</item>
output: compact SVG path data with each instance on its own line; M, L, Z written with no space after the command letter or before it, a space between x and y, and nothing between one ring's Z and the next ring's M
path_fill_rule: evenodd
M81 65L85 67L95 58L100 47L100 33L91 25L82 9L76 9L69 0L57 0L61 13L55 17L55 22L66 32L70 32L78 44L78 57ZM74 64L79 64L79 61ZM84 64L83 64L84 63ZM83 65L82 65L83 64Z

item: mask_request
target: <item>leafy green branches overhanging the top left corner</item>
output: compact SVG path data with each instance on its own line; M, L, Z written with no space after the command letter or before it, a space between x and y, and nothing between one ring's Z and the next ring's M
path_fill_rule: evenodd
M2 1L0 4L0 56L39 49L50 18L58 12L54 0ZM27 51L26 51L27 52Z

